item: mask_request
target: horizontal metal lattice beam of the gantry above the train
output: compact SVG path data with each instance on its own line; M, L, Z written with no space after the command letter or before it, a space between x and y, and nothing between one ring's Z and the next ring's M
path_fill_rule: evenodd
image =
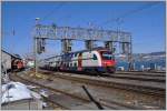
M96 40L96 41L114 41L114 42L130 42L129 32L119 31L121 38L118 38L117 31L112 30L98 30L86 28L71 28L71 27L56 27L52 26L38 26L38 33L35 32L37 38L45 39L70 39L70 40ZM68 30L67 30L68 29ZM91 38L90 38L91 37Z

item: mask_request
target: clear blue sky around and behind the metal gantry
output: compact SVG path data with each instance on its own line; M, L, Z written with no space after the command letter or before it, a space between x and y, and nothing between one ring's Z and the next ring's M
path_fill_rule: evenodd
M88 28L91 22L95 27L116 30L118 24L115 21L105 21L153 3L155 2L2 2L2 48L19 54L32 52L32 28L37 17L41 18L43 24ZM156 2L154 7L122 18L120 29L132 33L135 53L165 51L165 2ZM60 48L59 41L49 40L46 53L59 53ZM73 42L72 48L84 49L84 42Z

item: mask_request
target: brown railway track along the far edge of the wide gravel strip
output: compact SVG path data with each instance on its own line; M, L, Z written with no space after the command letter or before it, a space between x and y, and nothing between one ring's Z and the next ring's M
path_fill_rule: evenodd
M128 91L136 91L145 94L151 94L151 95L157 95L157 97L165 97L165 89L164 88L154 88L150 85L136 85L135 82L132 83L119 83L116 81L106 81L104 78L99 80L98 78L82 78L82 77L76 77L73 74L67 75L66 73L59 74L59 73L53 73L52 71L45 71L42 72L45 74L52 74L53 77L61 78L61 79L67 79L76 82L82 82L91 85L101 85L101 87L108 87L108 88L118 88L118 89L124 89ZM136 81L138 82L138 81ZM149 84L146 83L146 84Z

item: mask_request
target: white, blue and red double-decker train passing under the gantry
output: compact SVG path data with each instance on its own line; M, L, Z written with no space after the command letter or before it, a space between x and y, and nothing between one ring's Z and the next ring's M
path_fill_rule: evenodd
M86 71L109 72L116 71L116 60L111 51L106 48L95 48L45 59L41 69L55 71Z

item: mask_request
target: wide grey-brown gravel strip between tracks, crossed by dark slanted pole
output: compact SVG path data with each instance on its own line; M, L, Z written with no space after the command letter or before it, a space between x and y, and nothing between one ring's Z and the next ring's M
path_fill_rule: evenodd
M27 74L22 74L22 77L28 79L31 78L32 74L27 73ZM94 79L94 77L91 78ZM36 78L33 77L31 78L31 80L85 98L87 98L88 95L86 94L81 85L86 85L86 88L89 90L92 97L97 100L100 99L111 100L111 101L117 101L117 102L144 108L144 109L165 109L166 105L164 98L145 95L141 93L136 93L136 92L130 92L130 91L125 91L125 90L119 90L114 88L87 85L84 83L77 83L73 81L59 79L59 78L51 78L50 80L48 80L48 77L43 74L39 74Z

